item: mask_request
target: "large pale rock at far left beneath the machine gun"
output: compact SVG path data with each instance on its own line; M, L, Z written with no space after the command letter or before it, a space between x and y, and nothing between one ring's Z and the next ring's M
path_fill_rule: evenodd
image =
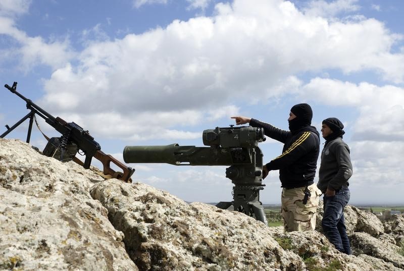
M0 139L0 269L137 270L89 194L101 178Z

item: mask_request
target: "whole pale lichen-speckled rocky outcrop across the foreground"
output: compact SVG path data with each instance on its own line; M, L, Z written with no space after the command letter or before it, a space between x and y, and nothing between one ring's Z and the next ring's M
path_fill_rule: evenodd
M0 270L404 270L400 218L345 213L355 255L0 139Z

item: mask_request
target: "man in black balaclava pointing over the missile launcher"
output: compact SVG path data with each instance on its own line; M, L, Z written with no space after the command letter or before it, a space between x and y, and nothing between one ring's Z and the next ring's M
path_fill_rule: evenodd
M279 170L282 189L282 216L285 231L312 231L316 228L316 210L321 191L314 183L320 136L311 126L313 112L307 103L290 109L289 131L248 117L231 117L237 125L249 123L264 128L264 133L284 143L282 154L263 167L263 178L269 171Z

